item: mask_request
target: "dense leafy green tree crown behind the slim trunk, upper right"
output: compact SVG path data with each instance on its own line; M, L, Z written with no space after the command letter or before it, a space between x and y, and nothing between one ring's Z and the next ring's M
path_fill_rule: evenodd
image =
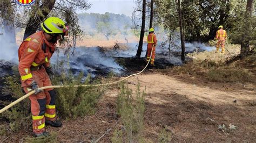
M186 41L207 42L212 40L217 31L218 25L223 25L227 31L238 19L237 10L244 3L238 1L181 1L184 15L184 37ZM178 4L175 1L156 1L154 16L165 28L179 27L177 11ZM232 9L232 10L231 10Z

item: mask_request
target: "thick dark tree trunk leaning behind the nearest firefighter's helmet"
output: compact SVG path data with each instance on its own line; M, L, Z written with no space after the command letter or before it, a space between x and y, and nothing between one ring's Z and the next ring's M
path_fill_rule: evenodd
M36 33L39 25L43 22L43 20L49 15L50 11L53 9L53 5L56 0L45 1L39 6L38 10L41 10L43 15L37 15L37 8L34 9L32 15L29 18L28 25L26 25L25 33L23 40L25 40L29 35ZM37 1L39 4L39 1ZM37 15L37 16L36 16Z

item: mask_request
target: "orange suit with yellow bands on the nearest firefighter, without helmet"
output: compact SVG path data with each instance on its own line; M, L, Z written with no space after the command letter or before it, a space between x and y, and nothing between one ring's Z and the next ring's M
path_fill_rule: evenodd
M50 67L50 58L55 51L55 45L48 42L43 31L39 31L26 38L19 46L19 74L22 87L26 93L32 89L30 84L35 81L38 87L50 86L51 80L46 73ZM45 119L56 120L55 99L53 89L45 89L29 97L31 101L32 127L34 133L45 131Z

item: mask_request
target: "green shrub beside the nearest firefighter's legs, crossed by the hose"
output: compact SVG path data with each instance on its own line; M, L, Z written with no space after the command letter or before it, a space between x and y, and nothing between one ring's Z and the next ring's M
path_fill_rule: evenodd
M90 76L86 78L84 83L81 83L81 81L82 74L78 78L72 75L63 75L52 81L55 85L70 85L68 88L56 89L56 109L62 119L83 117L95 112L98 99L106 87L73 87L73 85L89 84ZM91 85L95 83L98 83L98 81L93 82Z

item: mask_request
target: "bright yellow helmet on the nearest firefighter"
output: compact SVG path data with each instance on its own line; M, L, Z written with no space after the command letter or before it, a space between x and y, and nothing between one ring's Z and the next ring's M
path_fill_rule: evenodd
M65 23L62 19L57 17L49 17L42 24L41 27L48 34L62 34L69 30L68 26L65 26Z

